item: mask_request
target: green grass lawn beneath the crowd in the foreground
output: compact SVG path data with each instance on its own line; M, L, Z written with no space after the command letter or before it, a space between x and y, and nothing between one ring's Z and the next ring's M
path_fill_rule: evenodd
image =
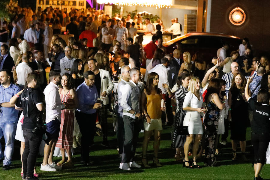
M109 124L112 125L112 124ZM110 127L112 128L112 127ZM110 132L110 144L116 146L116 133ZM254 172L251 163L244 163L241 161L240 148L238 147L238 161L232 162L232 149L228 138L227 145L220 145L220 155L217 155L219 167L203 167L202 169L187 169L182 167L182 164L176 163L174 159L175 150L170 147L171 145L171 126L164 128L162 132L162 140L160 144L159 158L163 167L152 167L150 169L132 169L131 171L124 171L119 169L120 159L117 155L116 148L105 149L101 146L101 137L95 137L95 146L91 147L91 160L95 162L94 165L83 167L79 162L79 149L75 149L75 155L73 156L73 161L75 162L75 167L68 170L58 170L57 172L44 172L40 171L40 164L42 162L42 157L37 159L37 171L41 179L76 179L76 180L86 180L86 179L184 179L184 180L195 180L195 179L224 179L224 180L234 180L234 179L253 179ZM137 153L142 152L142 141L143 133L140 133ZM152 142L149 143L148 159L149 165L153 166L153 148ZM252 160L253 157L250 154L252 151L250 143L250 128L247 130L247 158ZM18 152L16 152L18 154ZM10 170L2 171L0 170L0 180L10 180L10 179L21 179L21 161L19 160L19 155L14 155L13 164ZM55 162L58 162L61 158L54 158ZM135 158L140 164L140 157ZM250 161L251 162L251 161ZM203 165L199 161L200 165ZM0 164L3 165L2 162ZM261 172L261 176L264 179L270 179L270 169L269 164L266 164Z

